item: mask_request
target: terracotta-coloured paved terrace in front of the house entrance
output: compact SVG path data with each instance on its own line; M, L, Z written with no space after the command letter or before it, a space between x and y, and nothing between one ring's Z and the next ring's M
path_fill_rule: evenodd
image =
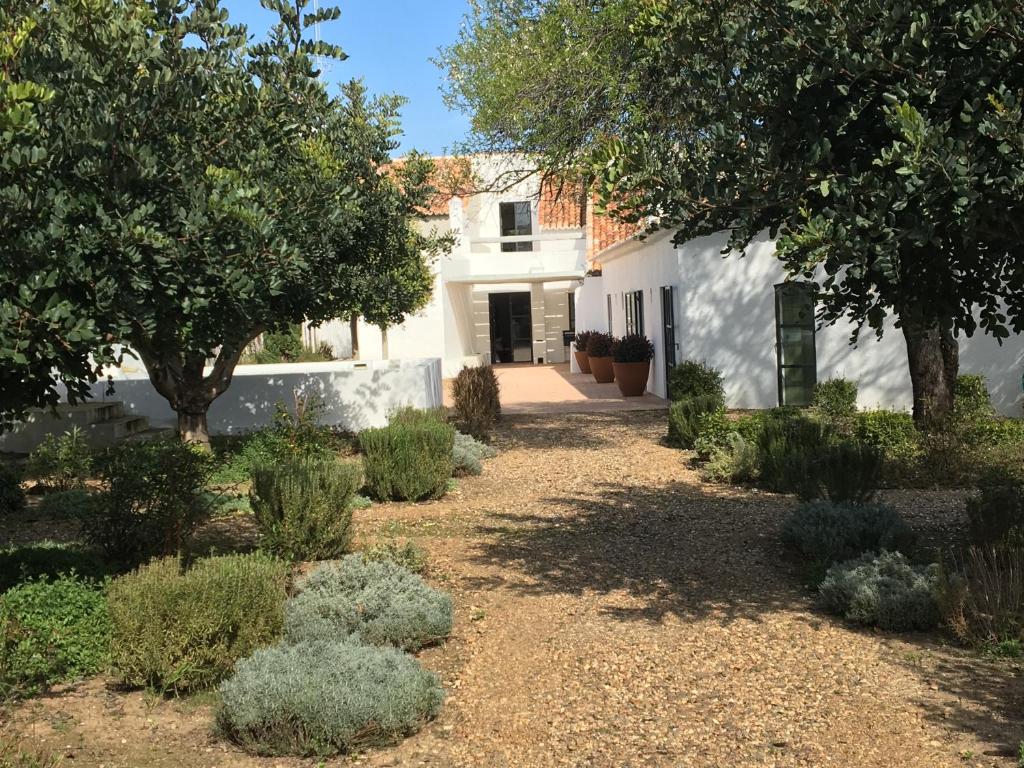
M598 384L590 374L570 374L568 364L495 366L502 387L503 414L577 414L609 411L660 411L667 400L649 392L623 397L618 386ZM451 404L445 386L445 403Z

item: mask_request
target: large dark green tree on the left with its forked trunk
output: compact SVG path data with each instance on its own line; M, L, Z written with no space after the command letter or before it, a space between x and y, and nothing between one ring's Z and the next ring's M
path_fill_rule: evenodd
M357 311L369 265L443 247L415 225L426 161L381 172L401 100L318 79L344 54L308 30L337 9L261 2L280 20L257 43L217 0L4 4L0 27L25 31L0 50L4 109L39 89L0 164L5 406L54 401L53 370L81 396L119 342L205 440L256 336Z

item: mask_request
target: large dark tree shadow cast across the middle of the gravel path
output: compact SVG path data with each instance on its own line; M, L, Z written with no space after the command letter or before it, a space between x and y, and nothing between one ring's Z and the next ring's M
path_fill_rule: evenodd
M777 499L716 497L685 484L607 483L595 494L544 500L564 510L561 516L492 517L512 527L480 528L490 539L479 544L474 558L526 579L496 577L470 585L535 595L624 591L637 605L607 609L623 621L675 614L728 623L806 607L776 545Z

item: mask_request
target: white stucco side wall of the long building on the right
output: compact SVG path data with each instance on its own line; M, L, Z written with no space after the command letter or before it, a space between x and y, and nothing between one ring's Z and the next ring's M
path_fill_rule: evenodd
M577 328L604 330L599 318L611 295L612 333L625 332L623 294L644 292L645 334L655 347L648 382L651 391L666 394L665 354L659 289L675 286L677 359L706 360L725 378L731 408L771 408L778 404L775 355L775 284L784 271L774 257L767 236L751 245L744 257L721 254L724 233L690 241L679 248L670 232L624 244L601 258L601 283L586 281L578 298ZM581 321L586 316L589 326ZM598 317L599 319L594 319ZM890 324L881 340L866 332L851 347L852 327L838 324L819 329L816 336L818 381L831 377L859 384L861 408L909 409L912 402L903 336ZM1021 413L1021 373L1024 337L1001 346L989 337L961 339L961 371L988 379L992 401L1002 413Z

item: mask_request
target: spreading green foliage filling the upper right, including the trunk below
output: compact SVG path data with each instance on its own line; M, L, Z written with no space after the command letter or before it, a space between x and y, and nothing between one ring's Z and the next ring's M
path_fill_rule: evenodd
M956 334L1024 331L1022 44L1017 0L485 0L441 61L480 145L677 242L767 229L822 322L893 317L924 422Z

